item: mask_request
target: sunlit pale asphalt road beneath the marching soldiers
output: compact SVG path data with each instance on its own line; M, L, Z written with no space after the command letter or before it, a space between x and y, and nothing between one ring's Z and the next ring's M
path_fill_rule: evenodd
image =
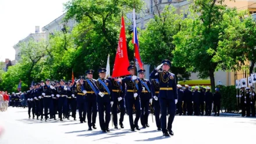
M27 109L9 107L8 111L0 112L0 126L4 128L0 144L256 143L256 118L176 116L173 123L174 136L167 138L162 136L162 131L156 130L151 115L149 122L149 128L131 132L126 115L124 129L113 129L111 124L111 132L102 134L98 116L97 129L87 131L87 123L80 124L79 120L73 121L73 118L48 122L33 120L28 118Z

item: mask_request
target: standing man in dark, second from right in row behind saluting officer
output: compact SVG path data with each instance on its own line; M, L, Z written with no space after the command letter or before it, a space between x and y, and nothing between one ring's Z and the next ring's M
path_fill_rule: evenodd
M214 95L212 95L212 92L210 91L210 87L206 87L207 92L205 92L205 116L211 116L212 111L212 102L214 102Z

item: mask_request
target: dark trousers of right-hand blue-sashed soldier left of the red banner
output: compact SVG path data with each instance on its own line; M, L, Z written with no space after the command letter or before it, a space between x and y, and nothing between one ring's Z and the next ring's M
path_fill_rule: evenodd
M98 111L99 111L99 125L102 130L108 129L109 122L111 120L111 105L110 100L98 100ZM104 120L104 111L105 111L105 120Z

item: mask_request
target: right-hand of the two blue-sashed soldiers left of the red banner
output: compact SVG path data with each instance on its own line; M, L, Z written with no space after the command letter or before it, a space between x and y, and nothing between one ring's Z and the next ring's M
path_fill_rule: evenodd
M106 69L98 70L99 78L96 85L101 93L104 95L97 95L98 111L99 111L99 125L102 132L109 132L109 122L111 120L111 106L113 105L113 93L111 81L105 79ZM104 118L105 111L105 118ZM104 120L105 119L105 120Z

